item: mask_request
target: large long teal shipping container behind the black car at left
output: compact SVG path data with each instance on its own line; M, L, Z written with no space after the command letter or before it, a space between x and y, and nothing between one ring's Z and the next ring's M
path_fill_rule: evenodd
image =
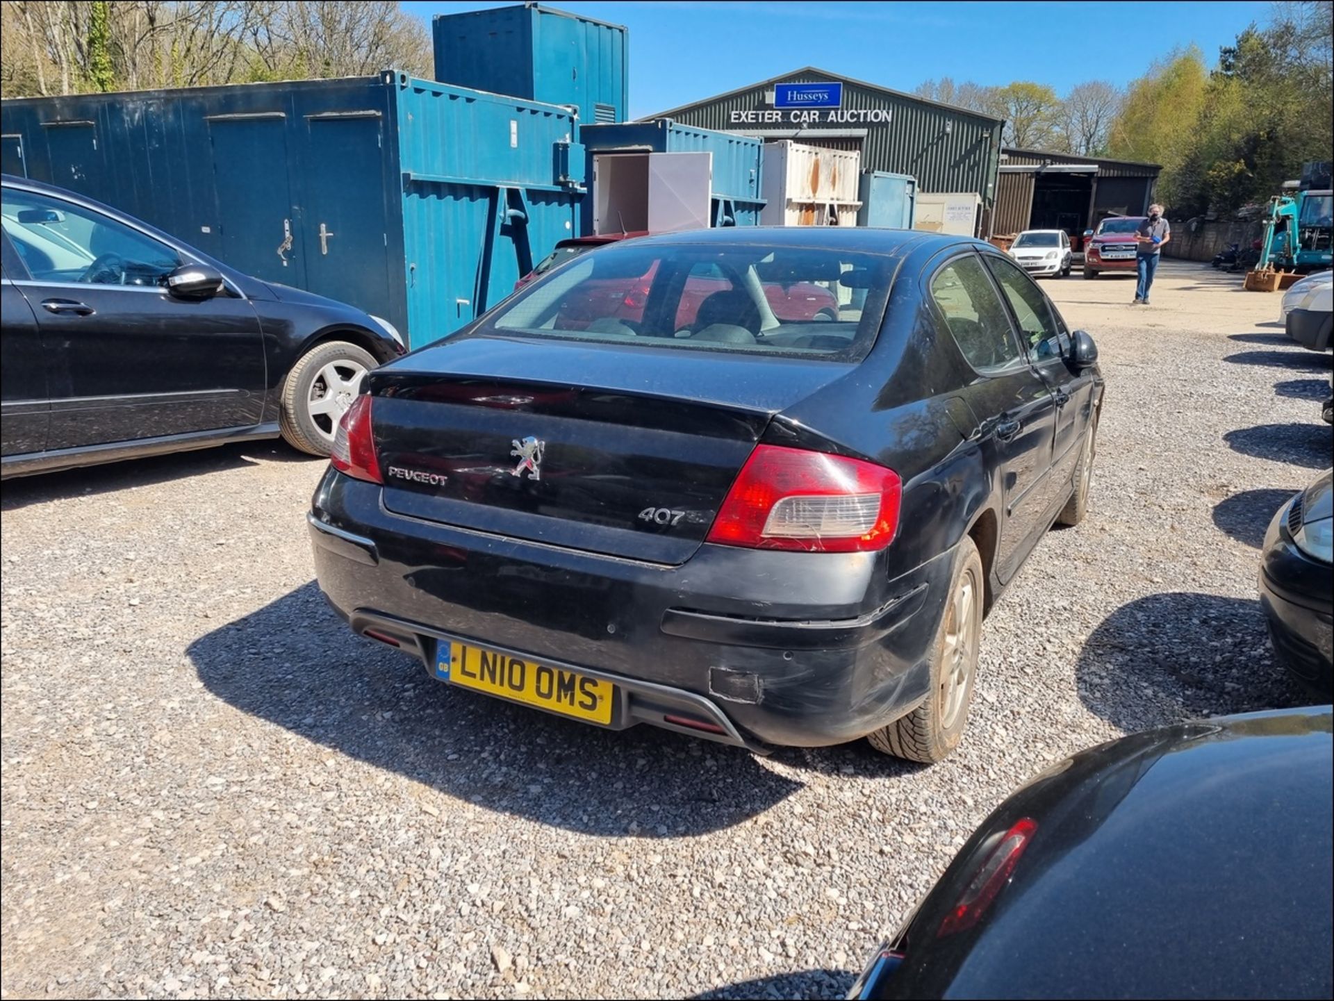
M5 169L113 205L412 347L578 231L564 108L406 73L0 103Z

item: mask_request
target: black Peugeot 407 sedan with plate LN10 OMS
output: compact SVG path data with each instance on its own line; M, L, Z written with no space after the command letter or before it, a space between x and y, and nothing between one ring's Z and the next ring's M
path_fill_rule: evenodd
M775 316L798 283L838 317ZM974 240L624 241L367 377L315 492L316 573L455 685L938 761L983 614L1085 516L1095 357Z

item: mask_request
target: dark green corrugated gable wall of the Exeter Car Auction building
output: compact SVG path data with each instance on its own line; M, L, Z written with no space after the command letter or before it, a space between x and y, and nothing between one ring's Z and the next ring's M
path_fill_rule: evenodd
M722 132L774 137L782 133L786 139L799 141L818 140L822 135L835 131L840 137L848 139L850 132L862 131L796 127L775 131L731 123L731 112L754 111L763 105L764 92L775 83L822 81L843 83L844 109L890 112L888 124L871 123L863 131L860 139L863 171L906 173L916 177L918 189L922 192L976 192L984 203L991 203L995 195L1003 124L999 119L867 84L842 73L807 67L675 108L663 116Z

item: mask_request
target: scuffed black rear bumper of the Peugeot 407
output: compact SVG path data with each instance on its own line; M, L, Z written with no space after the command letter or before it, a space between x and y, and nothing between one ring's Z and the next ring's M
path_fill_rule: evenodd
M332 471L309 521L329 602L428 672L440 640L472 642L616 684L611 729L758 750L855 740L915 708L952 564L884 580L883 554L714 545L644 564L395 514Z

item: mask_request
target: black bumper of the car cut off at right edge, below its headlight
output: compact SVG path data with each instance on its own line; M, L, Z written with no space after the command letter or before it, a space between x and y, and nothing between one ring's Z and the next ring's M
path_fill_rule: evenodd
M1309 557L1289 537L1290 505L1278 510L1265 536L1259 601L1285 666L1327 696L1334 684L1334 585L1329 565Z

